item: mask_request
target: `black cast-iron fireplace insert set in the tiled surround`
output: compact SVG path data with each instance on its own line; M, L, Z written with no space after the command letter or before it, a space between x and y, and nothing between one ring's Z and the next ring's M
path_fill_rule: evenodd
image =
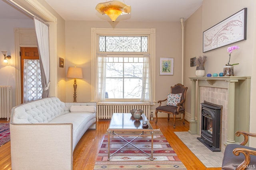
M213 152L220 152L222 106L206 101L201 105L201 137L197 139Z

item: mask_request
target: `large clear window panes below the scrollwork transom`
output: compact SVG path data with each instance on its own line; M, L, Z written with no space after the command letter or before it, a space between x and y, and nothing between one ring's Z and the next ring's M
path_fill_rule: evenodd
M106 57L106 94L113 99L140 99L142 57Z

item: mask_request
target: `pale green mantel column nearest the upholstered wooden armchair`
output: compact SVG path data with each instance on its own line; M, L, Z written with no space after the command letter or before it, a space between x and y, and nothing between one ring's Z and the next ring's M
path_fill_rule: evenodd
M189 121L189 131L190 134L197 134L197 121L196 121L196 80L191 80L191 118Z

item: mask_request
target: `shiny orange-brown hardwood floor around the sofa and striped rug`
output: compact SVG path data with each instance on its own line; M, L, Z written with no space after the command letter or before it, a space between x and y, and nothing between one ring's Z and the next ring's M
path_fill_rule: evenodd
M221 170L221 168L206 168L200 160L186 147L175 135L175 131L188 131L189 123L182 124L180 119L176 120L176 129L173 129L173 119L168 122L167 118L158 118L157 125L153 121L150 124L154 129L160 129L171 147L177 153L180 160L188 170ZM7 122L0 119L0 123ZM88 130L80 139L73 153L74 170L93 170L98 151L110 120L100 120L96 124L96 130ZM0 170L11 170L10 142L0 147Z

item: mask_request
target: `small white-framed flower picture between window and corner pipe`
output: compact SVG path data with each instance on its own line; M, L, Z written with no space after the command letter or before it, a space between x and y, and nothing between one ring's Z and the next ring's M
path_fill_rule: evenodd
M160 58L160 75L173 75L173 58Z

